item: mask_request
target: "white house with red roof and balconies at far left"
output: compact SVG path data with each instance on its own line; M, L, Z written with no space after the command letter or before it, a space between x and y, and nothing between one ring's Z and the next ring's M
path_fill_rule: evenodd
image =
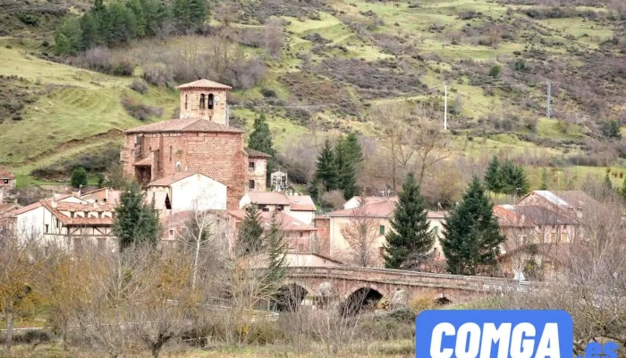
M55 195L7 215L13 234L38 238L70 250L87 244L114 249L113 204L88 202L72 195Z

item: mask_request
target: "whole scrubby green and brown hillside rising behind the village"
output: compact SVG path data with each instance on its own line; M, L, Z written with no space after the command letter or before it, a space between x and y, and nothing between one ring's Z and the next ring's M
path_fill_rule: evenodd
M106 149L127 128L171 118L178 106L171 86L151 85L140 94L129 88L132 81L156 63L170 64L172 54L212 63L220 38L264 63L254 76L234 72L241 78L233 122L250 128L255 113L268 112L279 149L311 131L376 136L372 109L388 103L427 107L443 122L445 81L450 132L466 156L532 152L543 160L538 166L619 166L626 157L622 141L605 131L609 121L626 119L626 21L605 4L213 1L204 36L140 39L112 49L137 64L133 78L55 62L55 26L89 2L20 3L0 1L0 165L20 175ZM38 21L26 23L33 21L24 13ZM267 46L270 26L283 36L278 54ZM215 80L229 81L228 73ZM123 98L162 114L142 122L124 109Z

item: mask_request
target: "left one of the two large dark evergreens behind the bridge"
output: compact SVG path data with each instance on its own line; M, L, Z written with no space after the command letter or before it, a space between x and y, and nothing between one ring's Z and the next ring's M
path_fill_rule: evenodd
M429 228L427 203L412 173L402 185L391 226L385 236L385 268L400 268L410 257L433 248L435 234Z

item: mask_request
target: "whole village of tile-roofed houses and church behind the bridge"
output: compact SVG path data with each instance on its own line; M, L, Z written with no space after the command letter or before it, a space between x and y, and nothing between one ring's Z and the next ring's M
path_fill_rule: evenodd
M320 212L309 195L290 185L286 173L267 173L269 154L246 147L244 133L229 126L229 86L199 80L177 87L180 118L124 132L120 153L123 174L140 184L143 198L157 211L160 248L176 247L191 218L202 216L217 250L235 257L237 233L254 206L267 230L273 217L289 245L291 267L385 267L385 235L398 196L354 196L343 209ZM269 185L268 185L269 184ZM19 207L12 200L15 176L0 168L0 230L76 251L86 245L119 250L114 233L121 190L103 186L73 188ZM382 194L385 194L383 192ZM529 262L548 278L568 265L576 243L585 240L583 223L607 217L603 204L581 191L531 191L512 204L496 205L493 215L505 240L498 249L501 277L526 280ZM412 269L445 272L440 243L447 211L427 211L435 243ZM365 234L355 238L351 227ZM366 249L363 246L366 242ZM528 250L533 247L533 252ZM357 251L367 251L367 258ZM537 277L536 277L537 278Z

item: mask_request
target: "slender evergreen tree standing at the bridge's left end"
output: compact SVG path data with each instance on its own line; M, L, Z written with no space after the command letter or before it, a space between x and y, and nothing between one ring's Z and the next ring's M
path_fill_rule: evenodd
M276 216L272 215L269 230L265 236L265 246L267 252L267 281L272 286L280 285L286 273L286 254L289 251L289 244L284 240L283 228Z

